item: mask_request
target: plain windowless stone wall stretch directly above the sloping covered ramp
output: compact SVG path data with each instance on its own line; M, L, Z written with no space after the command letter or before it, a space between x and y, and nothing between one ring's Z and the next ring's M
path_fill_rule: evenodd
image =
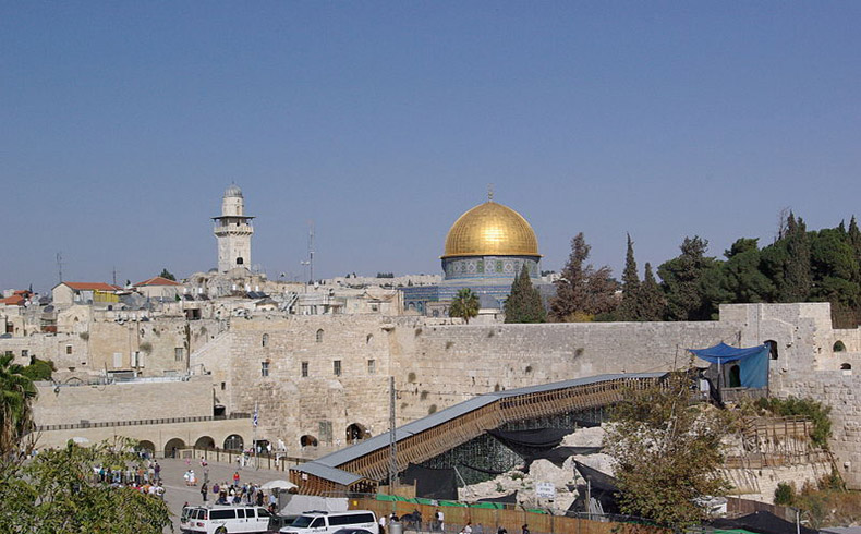
M688 348L738 339L724 323L426 325L390 332L401 418L410 421L476 393L605 373L669 371Z

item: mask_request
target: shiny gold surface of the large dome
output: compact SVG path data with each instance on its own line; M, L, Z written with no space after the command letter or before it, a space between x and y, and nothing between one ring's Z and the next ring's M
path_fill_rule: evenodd
M454 221L442 257L496 255L538 256L538 240L520 214L487 201Z

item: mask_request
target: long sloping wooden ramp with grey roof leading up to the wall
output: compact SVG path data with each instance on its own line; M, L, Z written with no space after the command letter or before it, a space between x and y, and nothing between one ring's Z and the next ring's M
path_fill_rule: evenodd
M667 373L598 375L480 395L396 428L397 470L421 464L511 423L611 405ZM375 493L389 476L390 433L290 469L299 493Z

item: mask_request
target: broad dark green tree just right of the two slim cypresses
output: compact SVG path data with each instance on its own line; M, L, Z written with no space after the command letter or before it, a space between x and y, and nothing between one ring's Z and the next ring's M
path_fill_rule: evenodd
M706 257L708 241L694 235L684 238L681 254L663 263L658 276L667 295L667 318L669 320L706 320L716 312L715 293L719 279L713 269L719 269L719 263Z

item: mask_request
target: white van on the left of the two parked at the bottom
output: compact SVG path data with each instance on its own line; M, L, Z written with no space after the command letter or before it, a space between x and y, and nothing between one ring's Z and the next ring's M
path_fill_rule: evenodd
M267 532L270 513L252 506L194 506L182 509L180 531L183 534L232 534Z

